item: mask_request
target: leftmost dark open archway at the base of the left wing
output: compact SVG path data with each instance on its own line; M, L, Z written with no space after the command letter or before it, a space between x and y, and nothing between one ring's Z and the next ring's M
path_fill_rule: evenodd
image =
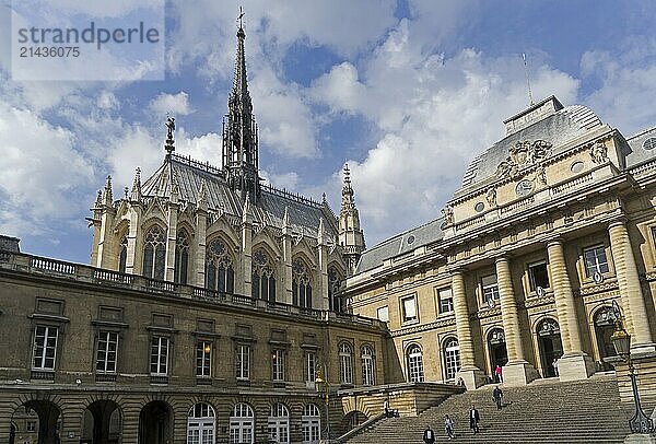
M14 410L11 425L14 443L59 444L61 411L49 400L31 400Z

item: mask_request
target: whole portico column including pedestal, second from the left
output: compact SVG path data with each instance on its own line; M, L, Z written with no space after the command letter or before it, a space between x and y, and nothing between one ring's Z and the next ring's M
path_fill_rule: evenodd
M537 378L538 373L524 358L522 328L509 261L506 257L500 257L495 260L495 265L496 282L501 295L501 317L508 353L508 363L503 369L503 381L507 385L526 385Z

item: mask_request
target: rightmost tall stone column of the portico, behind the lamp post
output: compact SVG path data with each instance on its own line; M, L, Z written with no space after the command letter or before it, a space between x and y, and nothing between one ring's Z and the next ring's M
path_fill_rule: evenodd
M609 224L608 232L622 305L625 307L623 314L629 320L626 328L632 337L631 351L632 353L655 352L656 344L649 329L647 307L637 274L635 257L631 248L626 223L622 220L613 221Z

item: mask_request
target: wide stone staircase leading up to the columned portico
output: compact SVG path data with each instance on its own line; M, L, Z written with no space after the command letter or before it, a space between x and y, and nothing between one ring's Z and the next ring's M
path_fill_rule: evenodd
M445 414L455 422L455 441L462 443L621 443L630 432L614 374L570 383L538 379L525 387L501 385L501 411L492 401L494 387L454 395L418 417L384 419L348 443L423 443L426 425L435 431L437 442L445 442ZM481 416L476 435L468 420L472 404Z

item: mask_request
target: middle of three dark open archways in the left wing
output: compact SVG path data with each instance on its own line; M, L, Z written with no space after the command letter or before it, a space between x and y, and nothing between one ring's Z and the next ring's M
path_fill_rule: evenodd
M84 410L82 444L118 444L122 424L118 405L113 400L92 402Z

